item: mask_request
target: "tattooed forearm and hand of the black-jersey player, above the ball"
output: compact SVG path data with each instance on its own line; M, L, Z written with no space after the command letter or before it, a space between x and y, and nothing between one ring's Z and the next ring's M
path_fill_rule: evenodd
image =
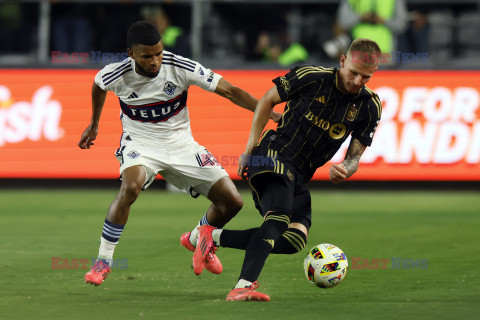
M348 146L345 160L340 164L333 164L330 167L330 180L333 183L339 183L347 178L350 178L358 169L360 157L367 147L360 141L352 138Z

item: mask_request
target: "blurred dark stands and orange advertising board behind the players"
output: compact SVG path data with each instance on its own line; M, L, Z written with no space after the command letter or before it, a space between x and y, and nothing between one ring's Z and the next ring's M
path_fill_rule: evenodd
M352 8L362 1L378 7L374 0L1 0L0 178L11 185L17 178L117 177L112 154L120 123L113 95L96 147L84 152L75 144L89 121L93 77L125 57L125 34L137 20L154 22L167 49L260 98L271 79L295 64L338 67L338 55L358 35L360 14ZM388 29L390 38L381 40L388 59L369 83L382 99L382 122L352 180L476 186L479 2L378 3L395 5L384 25L377 24ZM251 114L197 88L191 89L189 106L195 138L236 178ZM334 161L344 153L345 148ZM326 178L326 168L315 176Z

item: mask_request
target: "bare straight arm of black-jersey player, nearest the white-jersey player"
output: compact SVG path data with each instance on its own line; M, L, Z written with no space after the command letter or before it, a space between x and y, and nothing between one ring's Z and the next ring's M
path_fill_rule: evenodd
M282 102L278 94L277 87L273 87L265 93L265 95L258 102L255 114L253 115L252 127L250 129L250 136L248 137L247 147L242 154L238 164L238 175L242 179L246 179L247 161L250 158L252 149L260 140L263 129L271 117L273 107Z

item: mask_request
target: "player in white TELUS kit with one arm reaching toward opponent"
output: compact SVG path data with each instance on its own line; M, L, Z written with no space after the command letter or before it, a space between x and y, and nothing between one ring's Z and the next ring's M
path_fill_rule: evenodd
M78 143L82 149L94 144L107 91L113 91L122 110L123 133L115 154L120 161L122 184L107 212L97 261L85 274L85 281L95 285L111 272L113 252L130 206L157 174L191 196L203 195L212 202L198 226L222 227L243 206L227 172L192 137L186 105L188 87L196 85L215 92L250 111L258 102L199 63L163 50L160 34L149 22L140 21L130 27L127 46L129 58L97 73L92 87L91 123ZM274 121L280 117L272 112ZM180 243L195 251L197 234L197 228L183 234ZM214 248L205 259L205 268L222 272Z

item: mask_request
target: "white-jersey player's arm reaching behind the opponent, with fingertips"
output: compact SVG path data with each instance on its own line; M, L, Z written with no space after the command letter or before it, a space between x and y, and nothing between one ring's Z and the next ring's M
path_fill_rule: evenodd
M218 81L215 93L219 96L227 98L232 103L239 107L255 112L258 100L245 90L232 85L230 82L221 78ZM279 122L282 118L282 114L271 110L270 119L275 122Z

